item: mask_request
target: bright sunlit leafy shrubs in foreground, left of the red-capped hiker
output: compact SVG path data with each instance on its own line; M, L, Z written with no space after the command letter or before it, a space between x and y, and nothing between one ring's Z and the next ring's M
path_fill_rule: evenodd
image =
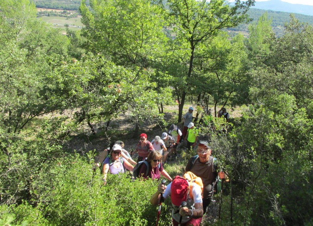
M157 211L149 197L156 191L156 181L131 182L128 174L109 174L104 186L99 171L93 175L90 164L80 156L58 159L46 174L50 176L41 178L43 181L38 185L47 186L41 199L50 200L43 211L52 224L151 225L155 222ZM164 216L161 225L167 225L168 218L171 219Z

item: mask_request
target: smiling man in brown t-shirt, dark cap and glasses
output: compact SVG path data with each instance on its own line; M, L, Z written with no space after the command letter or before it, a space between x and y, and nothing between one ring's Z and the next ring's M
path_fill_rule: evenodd
M203 182L203 211L207 210L211 202L214 185L217 176L221 179L225 177L225 173L218 173L218 166L214 163L214 157L211 156L212 149L207 141L200 141L197 147L198 158L191 157L187 163L185 171L191 171L196 176L200 177Z

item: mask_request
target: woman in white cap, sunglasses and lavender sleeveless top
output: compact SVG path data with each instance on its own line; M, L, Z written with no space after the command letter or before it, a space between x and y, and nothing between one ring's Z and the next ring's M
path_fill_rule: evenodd
M113 145L111 154L103 162L103 182L106 184L108 171L111 174L125 173L126 169L132 171L134 167L123 157L121 157L122 147L118 144Z

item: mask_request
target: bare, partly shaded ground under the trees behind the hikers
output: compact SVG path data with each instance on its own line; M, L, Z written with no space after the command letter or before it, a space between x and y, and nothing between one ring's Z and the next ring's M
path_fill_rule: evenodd
M186 105L186 109L184 109L183 114L188 111L189 105ZM238 107L236 109L228 110L229 114L233 118L237 118L241 116L241 112L244 107ZM212 108L213 109L213 108ZM168 123L168 127L171 124L178 125L182 130L182 123L177 124L177 115L178 115L178 106L165 106L164 107L164 117L165 121ZM196 115L196 111L193 112L193 115ZM81 126L81 130L77 131L76 134L72 134L71 138L66 145L69 150L76 150L77 152L84 154L90 150L95 150L95 153L98 156L95 158L99 158L101 152L110 146L111 142L116 140L122 140L125 144L125 149L127 151L135 150L136 145L139 142L139 137L134 138L134 129L135 123L131 122L127 119L127 114L120 114L119 117L110 122L109 128L107 131L104 131L106 122L99 122L94 124L96 136L91 134L91 130L88 125ZM156 135L161 136L163 132L167 132L168 128L162 128L160 125L149 125L142 124L139 130L139 133L146 133L148 135L148 140L151 141L154 139ZM177 150L179 149L179 146Z

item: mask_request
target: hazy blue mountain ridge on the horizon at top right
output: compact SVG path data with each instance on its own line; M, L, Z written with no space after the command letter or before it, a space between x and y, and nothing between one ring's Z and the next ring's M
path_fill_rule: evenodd
M269 0L266 2L255 2L255 5L251 8L290 12L290 13L300 13L300 14L304 14L304 15L313 16L313 6L301 5L301 4L291 4L291 3L283 2L280 0Z

